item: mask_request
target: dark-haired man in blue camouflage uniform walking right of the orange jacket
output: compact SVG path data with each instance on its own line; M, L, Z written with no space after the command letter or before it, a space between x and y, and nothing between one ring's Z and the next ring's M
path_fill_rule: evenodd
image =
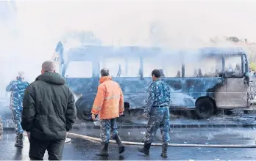
M170 141L170 97L171 91L169 86L160 80L160 70L152 71L153 83L149 86L149 98L144 110L143 116L149 118L146 127L146 137L144 138L144 146L138 148L138 151L149 154L151 143L157 133L158 128L162 134L162 157L167 157L168 142Z

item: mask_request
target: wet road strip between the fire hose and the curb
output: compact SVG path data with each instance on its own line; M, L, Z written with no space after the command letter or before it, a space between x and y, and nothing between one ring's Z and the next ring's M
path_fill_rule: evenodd
M99 130L80 127L79 130L71 132L81 135L88 135L99 138ZM145 136L146 129L118 129L123 141L139 141ZM256 130L252 128L234 127L234 128L171 128L171 143L188 144L247 144L255 145ZM160 143L160 130L154 142Z

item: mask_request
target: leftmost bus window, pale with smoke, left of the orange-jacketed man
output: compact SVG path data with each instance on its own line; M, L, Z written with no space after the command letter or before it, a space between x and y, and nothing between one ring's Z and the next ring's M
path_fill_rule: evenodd
M93 63L91 61L70 61L65 72L68 78L92 78Z

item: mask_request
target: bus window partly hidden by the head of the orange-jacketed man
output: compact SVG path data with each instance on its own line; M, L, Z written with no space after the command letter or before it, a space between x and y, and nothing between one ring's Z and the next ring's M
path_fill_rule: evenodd
M140 59L111 58L101 62L101 69L110 70L112 77L139 77Z

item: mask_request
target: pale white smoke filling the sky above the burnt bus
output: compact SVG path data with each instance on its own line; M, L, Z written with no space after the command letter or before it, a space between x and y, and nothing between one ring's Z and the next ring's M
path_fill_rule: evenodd
M72 31L93 31L103 45L179 50L210 46L210 37L256 37L255 1L14 1L15 7L9 3L0 3L1 90L18 71L34 81L57 42Z

